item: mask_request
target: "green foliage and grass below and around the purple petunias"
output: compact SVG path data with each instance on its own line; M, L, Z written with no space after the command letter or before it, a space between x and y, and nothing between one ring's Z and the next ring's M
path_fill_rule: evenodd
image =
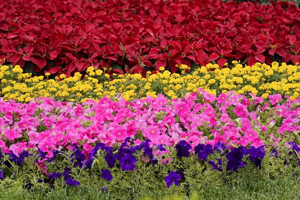
M5 178L0 180L0 199L229 199L230 196L233 199L291 199L300 189L300 167L295 159L300 157L296 152L290 153L284 145L289 139L280 141L278 157L269 156L272 148L265 148L261 169L245 155L243 161L247 164L237 172L226 171L226 161L223 172L210 170L211 165L197 156L177 157L172 147L168 148L169 153L158 157L155 165L147 162L142 151L137 151L133 171L122 171L118 161L108 168L102 150L97 151L91 169L73 167L72 151L61 151L54 162L45 162L48 172L71 168L70 174L80 182L79 187L66 185L63 177L47 180L40 168L36 170L37 152L33 152L22 166L10 161L8 168L2 162L0 168L5 168ZM226 160L224 154L207 156L207 160L216 161L217 158ZM2 159L8 160L8 157ZM113 176L110 181L100 176L101 169L107 168ZM167 188L164 177L171 170L184 171L186 179L180 180L178 186L172 184ZM31 187L26 188L29 183ZM283 189L284 194L278 189Z

